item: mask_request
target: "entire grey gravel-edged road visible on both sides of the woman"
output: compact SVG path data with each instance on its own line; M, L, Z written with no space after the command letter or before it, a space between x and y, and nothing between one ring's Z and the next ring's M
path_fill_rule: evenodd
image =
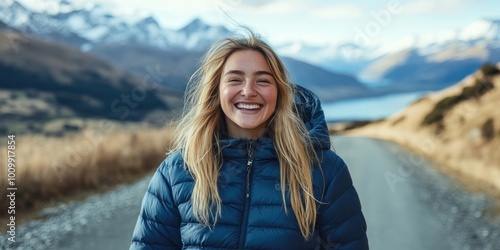
M500 249L492 200L469 194L429 162L385 141L334 137L358 190L370 249ZM42 211L0 249L128 249L148 176L136 183Z

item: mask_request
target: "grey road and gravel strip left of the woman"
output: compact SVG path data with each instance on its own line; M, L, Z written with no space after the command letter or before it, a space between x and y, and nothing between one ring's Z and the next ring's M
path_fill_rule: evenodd
M125 249L150 179L46 208L41 219L16 228L15 243L7 240L7 234L0 236L0 249Z

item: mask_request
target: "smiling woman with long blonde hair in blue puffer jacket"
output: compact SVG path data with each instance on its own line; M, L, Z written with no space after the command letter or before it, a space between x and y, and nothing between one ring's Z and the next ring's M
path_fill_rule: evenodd
M319 101L262 40L215 43L191 79L175 150L146 192L130 249L368 249Z

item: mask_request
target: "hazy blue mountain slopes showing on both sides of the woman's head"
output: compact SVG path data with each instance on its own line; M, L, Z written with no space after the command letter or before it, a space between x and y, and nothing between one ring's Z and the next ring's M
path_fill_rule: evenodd
M89 52L114 62L136 75L144 75L148 73L148 70L159 69L164 80L161 84L178 93L184 92L189 77L199 66L199 59L203 56L203 53L199 51L166 51L135 44L96 46ZM290 73L291 80L314 91L323 102L372 94L354 77L332 73L292 58L283 57L282 59Z

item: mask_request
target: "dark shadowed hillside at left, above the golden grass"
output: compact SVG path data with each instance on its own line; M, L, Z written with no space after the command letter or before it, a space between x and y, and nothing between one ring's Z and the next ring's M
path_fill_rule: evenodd
M138 121L181 105L179 94L152 77L138 79L76 49L16 32L0 33L0 79L0 118L10 123Z

